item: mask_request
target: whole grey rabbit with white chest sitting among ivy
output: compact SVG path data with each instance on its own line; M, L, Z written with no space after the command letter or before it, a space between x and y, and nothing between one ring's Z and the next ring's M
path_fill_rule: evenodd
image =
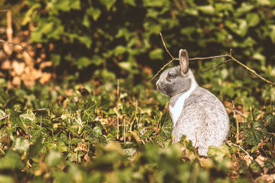
M198 147L201 156L208 156L210 145L223 145L229 134L225 107L205 88L198 86L186 49L179 50L179 66L166 69L157 81L157 90L170 96L169 112L173 121L172 141L182 135Z

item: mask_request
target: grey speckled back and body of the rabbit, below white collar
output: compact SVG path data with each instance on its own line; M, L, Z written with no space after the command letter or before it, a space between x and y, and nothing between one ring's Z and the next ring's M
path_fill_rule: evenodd
M208 90L197 87L184 101L181 114L173 127L174 143L183 134L199 147L199 154L207 156L209 145L224 144L229 132L228 114L217 97Z

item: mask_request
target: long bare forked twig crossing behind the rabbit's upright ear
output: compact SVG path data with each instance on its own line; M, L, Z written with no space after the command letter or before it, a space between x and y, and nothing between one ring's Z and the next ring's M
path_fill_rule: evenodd
M164 66L162 66L161 69L159 69L159 71L157 71L157 73L153 76L153 78L149 81L149 82L152 82L155 77L157 77L157 75L159 75L159 73L166 67L168 66L168 64L170 64L171 62L173 62L174 60L179 60L178 58L174 58L170 52L168 51L166 45L165 45L165 42L164 42L164 39L162 37L162 33L159 32L159 35L160 37L162 38L162 43L164 45L164 48L166 49L167 53L169 54L169 56L172 58L172 60L170 60L170 62L168 62L167 64L165 64ZM189 60L205 60L205 59L211 59L211 58L222 58L222 57L229 57L230 59L229 60L225 60L224 62L221 62L220 64L217 64L217 65L214 65L214 66L211 66L209 69L206 69L204 71L209 71L210 69L214 69L215 67L217 66L220 66L221 64L225 64L231 60L233 60L234 62L240 64L241 66L243 66L245 69L247 69L248 71L250 71L251 73L253 73L254 75L256 75L257 77L259 77L261 80L263 80L264 82L267 82L268 84L272 84L273 86L275 86L275 83L274 82L271 82L270 80L267 80L265 79L265 77L262 77L261 75L259 75L258 73L256 73L256 71L254 71L253 69L250 69L248 66L246 66L245 64L241 63L239 60L236 60L236 58L234 58L232 56L232 51L233 49L230 49L230 53L229 54L226 54L226 55L221 55L221 56L211 56L211 57L202 57L202 58L190 58ZM203 71L203 72L204 72Z

